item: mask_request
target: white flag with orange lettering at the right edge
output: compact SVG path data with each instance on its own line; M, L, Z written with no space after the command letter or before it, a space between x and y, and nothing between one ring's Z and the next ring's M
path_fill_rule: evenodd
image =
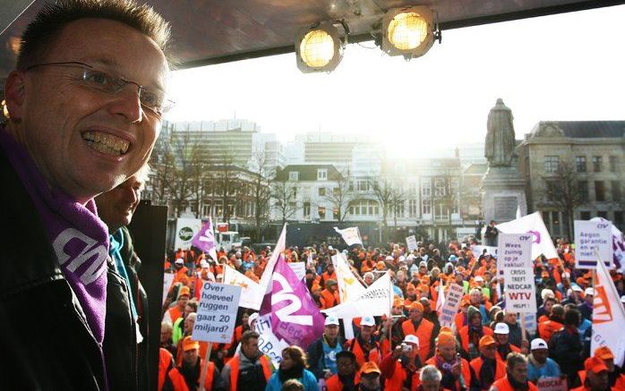
M596 348L605 345L614 354L614 364L621 366L625 358L625 338L621 334L625 325L625 310L603 259L597 262L593 285L595 298L590 352L595 352Z

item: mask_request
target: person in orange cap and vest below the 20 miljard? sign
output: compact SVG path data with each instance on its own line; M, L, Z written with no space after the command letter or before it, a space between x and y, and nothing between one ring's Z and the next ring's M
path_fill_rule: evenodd
M173 370L170 370L163 384L163 391L193 391L200 386L201 365L200 343L193 341L191 336L185 336L183 341L183 361ZM219 389L221 378L215 368L215 363L210 361L204 390L212 391Z

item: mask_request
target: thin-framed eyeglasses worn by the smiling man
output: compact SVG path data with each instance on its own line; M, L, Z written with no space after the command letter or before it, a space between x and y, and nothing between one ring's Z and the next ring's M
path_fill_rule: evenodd
M141 86L135 81L127 81L124 78L117 78L110 73L95 69L89 64L83 64L75 61L68 61L64 63L46 63L30 65L26 68L26 71L30 71L40 66L68 66L81 69L80 81L90 87L91 89L97 89L98 91L106 92L108 94L117 94L128 84L133 84L137 88L137 94L141 101L141 106L149 108L154 114L161 116L167 111L171 110L176 103L167 98L165 92L156 90L152 91Z

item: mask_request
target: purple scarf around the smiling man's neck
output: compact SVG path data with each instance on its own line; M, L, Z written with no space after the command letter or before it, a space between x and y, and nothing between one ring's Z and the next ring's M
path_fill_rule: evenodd
M29 192L56 252L56 261L81 303L100 353L107 314L107 225L93 199L86 205L49 186L28 151L0 128L0 145Z

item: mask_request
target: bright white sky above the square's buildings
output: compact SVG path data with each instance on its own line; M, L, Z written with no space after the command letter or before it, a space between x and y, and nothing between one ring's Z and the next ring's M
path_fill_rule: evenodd
M405 149L484 140L497 98L517 139L541 120L624 120L624 20L621 5L443 30L441 45L410 62L349 45L329 74L299 72L295 54L179 71L168 119L236 115L283 141L321 130Z

